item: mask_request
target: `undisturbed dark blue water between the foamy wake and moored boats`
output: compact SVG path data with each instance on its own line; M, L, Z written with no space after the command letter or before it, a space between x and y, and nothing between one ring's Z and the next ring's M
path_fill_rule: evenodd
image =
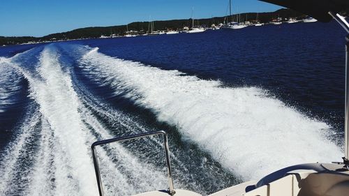
M227 86L261 86L285 103L341 126L345 34L335 22L298 23L83 43L121 59Z

